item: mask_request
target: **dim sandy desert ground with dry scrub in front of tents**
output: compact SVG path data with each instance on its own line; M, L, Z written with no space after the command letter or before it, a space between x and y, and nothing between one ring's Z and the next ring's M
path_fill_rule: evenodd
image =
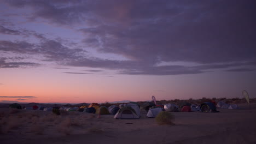
M256 143L256 103L218 113L172 112L176 125L112 115L0 109L0 143Z

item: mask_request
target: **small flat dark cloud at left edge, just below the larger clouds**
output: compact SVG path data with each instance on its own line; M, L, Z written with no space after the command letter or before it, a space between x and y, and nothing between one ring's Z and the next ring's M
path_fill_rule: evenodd
M6 58L0 58L0 68L38 67L38 63L30 62L6 62Z

